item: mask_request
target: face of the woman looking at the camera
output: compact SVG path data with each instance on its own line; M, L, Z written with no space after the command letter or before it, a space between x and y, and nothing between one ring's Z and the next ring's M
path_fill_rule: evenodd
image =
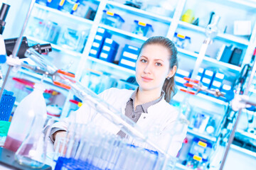
M166 77L174 75L169 69L169 56L169 50L162 45L144 46L136 62L136 80L140 89L161 91Z

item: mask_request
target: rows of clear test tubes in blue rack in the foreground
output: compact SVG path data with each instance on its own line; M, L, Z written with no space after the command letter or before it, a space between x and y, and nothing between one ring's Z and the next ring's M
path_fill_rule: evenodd
M129 144L96 125L70 123L68 135L58 141L55 169L161 169L164 155Z

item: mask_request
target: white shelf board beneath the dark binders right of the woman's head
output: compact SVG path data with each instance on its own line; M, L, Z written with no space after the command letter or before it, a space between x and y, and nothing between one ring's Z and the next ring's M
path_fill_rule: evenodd
M191 57L198 57L198 53L196 52L191 52L182 48L177 47L178 52L181 52L184 55L188 55ZM213 58L210 57L203 57L203 60L208 62L209 66L212 65L213 67L220 67L222 69L230 69L231 71L236 71L236 72L240 72L241 71L241 67L238 67L236 65L233 64L229 64L226 62L220 62L218 60L215 60Z

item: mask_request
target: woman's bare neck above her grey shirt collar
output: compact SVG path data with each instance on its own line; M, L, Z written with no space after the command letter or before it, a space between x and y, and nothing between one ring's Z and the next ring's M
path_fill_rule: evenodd
M154 89L150 91L144 91L142 89L138 89L137 95L135 98L135 103L137 103L137 105L141 105L144 103L148 103L149 101L155 101L160 96L161 96L161 90L159 89Z

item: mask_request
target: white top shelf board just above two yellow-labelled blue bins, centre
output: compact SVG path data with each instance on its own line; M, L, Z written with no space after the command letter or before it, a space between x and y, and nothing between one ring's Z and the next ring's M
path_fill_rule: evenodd
M120 8L122 9L122 11L126 11L127 13L134 13L134 15L137 16L143 16L145 18L149 18L155 21L159 21L159 22L164 22L164 23L171 23L172 19L170 17L166 17L166 16L160 16L148 11L144 11L142 9L139 8L134 8L132 6L127 6L124 4L120 4L118 2L115 1L107 1L107 7L108 8Z

